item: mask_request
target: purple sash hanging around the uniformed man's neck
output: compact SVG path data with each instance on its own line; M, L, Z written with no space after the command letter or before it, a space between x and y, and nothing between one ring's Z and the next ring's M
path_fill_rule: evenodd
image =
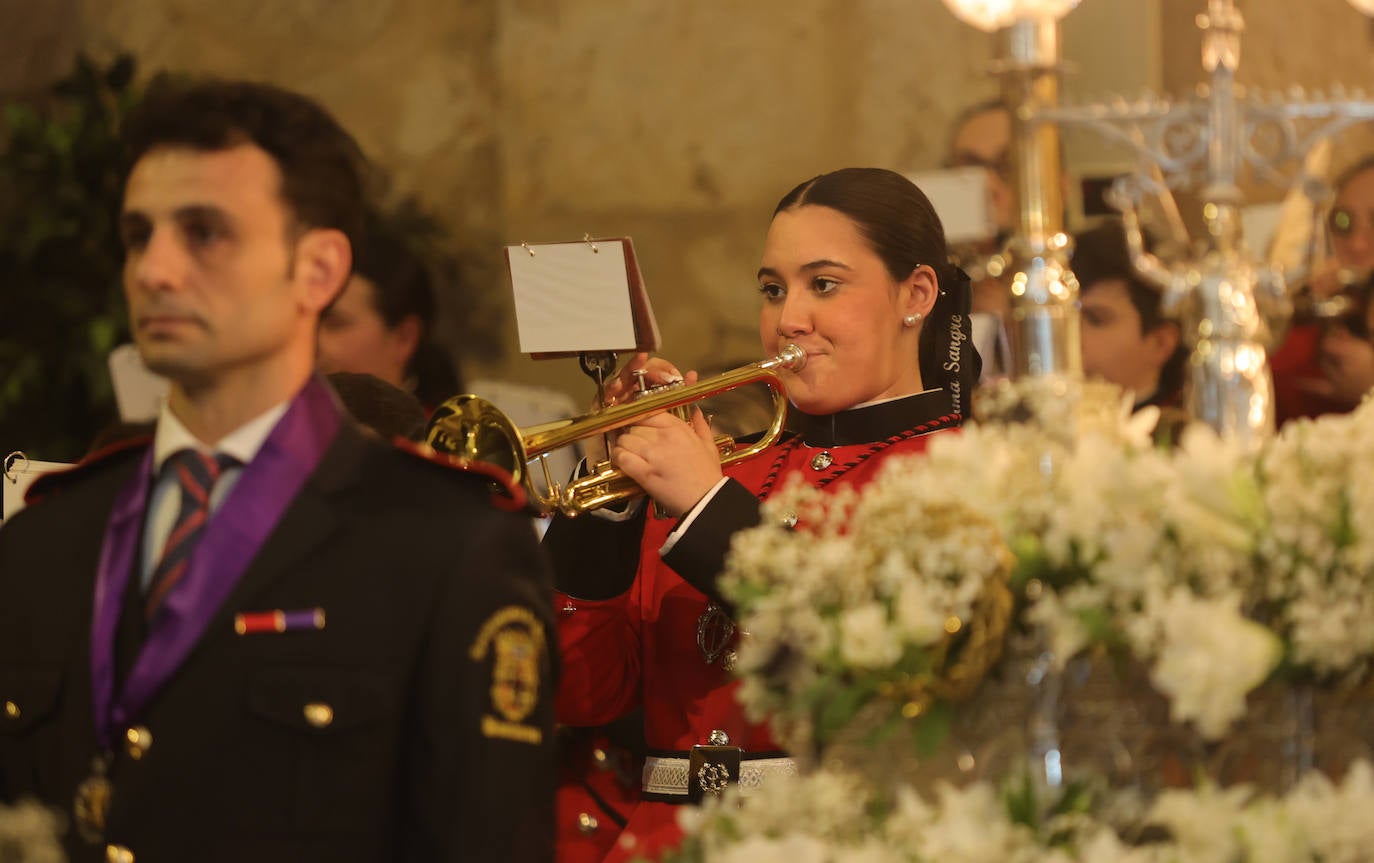
M239 481L205 526L181 583L158 609L148 638L115 697L114 639L143 533L153 470L153 448L148 448L139 470L115 497L96 570L91 694L102 748L114 743L114 728L135 719L180 668L320 463L339 425L341 408L334 394L319 377L311 378L257 456L243 466Z

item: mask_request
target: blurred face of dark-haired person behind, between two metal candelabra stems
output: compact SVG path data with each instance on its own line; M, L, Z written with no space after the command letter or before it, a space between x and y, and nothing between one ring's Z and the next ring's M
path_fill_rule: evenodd
M1138 401L1153 396L1179 344L1178 328L1164 323L1142 333L1140 312L1121 279L1094 282L1080 297L1083 374L1131 390Z

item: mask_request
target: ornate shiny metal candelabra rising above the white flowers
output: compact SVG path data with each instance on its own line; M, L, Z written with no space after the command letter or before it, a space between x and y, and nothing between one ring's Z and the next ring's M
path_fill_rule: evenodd
M1352 0L1353 1L1353 0ZM1257 447L1274 430L1271 349L1292 312L1287 284L1300 272L1261 262L1241 232L1243 169L1267 183L1292 184L1319 142L1374 120L1362 92L1246 95L1235 82L1243 18L1232 0L1208 0L1204 30L1206 82L1191 99L1145 98L1062 106L1058 19L1077 0L945 0L960 18L998 29L998 73L1013 118L1017 231L1006 250L1011 290L1010 335L1015 377L1079 377L1077 283L1063 234L1059 129L1079 126L1127 147L1138 169L1118 180L1132 258L1162 291L1190 349L1186 407L1220 434ZM1301 180L1301 175L1294 172ZM1175 190L1202 201L1205 234L1178 236L1169 253L1145 250L1140 203L1158 195L1176 210ZM1314 195L1315 198L1315 195ZM1314 202L1314 206L1316 203Z

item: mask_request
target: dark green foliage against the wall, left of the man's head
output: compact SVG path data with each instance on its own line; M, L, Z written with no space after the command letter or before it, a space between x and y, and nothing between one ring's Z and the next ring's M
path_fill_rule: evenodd
M115 416L106 366L125 341L120 128L133 59L81 56L43 99L3 106L0 448L74 460Z

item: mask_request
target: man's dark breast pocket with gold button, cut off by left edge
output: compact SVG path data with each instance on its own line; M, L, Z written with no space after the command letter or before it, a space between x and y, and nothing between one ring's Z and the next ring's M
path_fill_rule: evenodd
M56 669L0 668L0 792L43 790L40 765L56 770L62 675Z

